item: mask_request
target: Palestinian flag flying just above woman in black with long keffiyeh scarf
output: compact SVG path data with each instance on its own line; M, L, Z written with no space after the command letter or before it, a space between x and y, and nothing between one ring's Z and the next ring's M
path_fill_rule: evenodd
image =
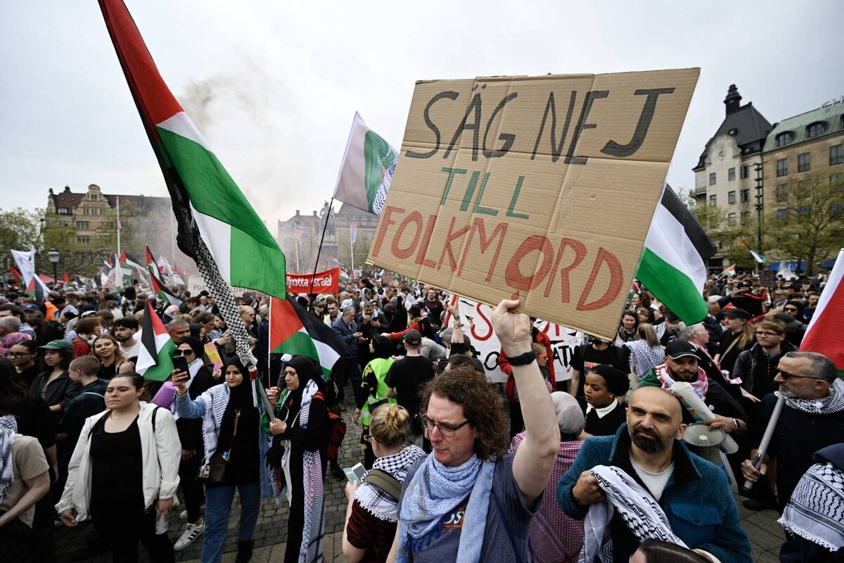
M269 351L271 354L303 355L319 363L328 378L341 349L334 331L306 311L292 297L270 299Z

